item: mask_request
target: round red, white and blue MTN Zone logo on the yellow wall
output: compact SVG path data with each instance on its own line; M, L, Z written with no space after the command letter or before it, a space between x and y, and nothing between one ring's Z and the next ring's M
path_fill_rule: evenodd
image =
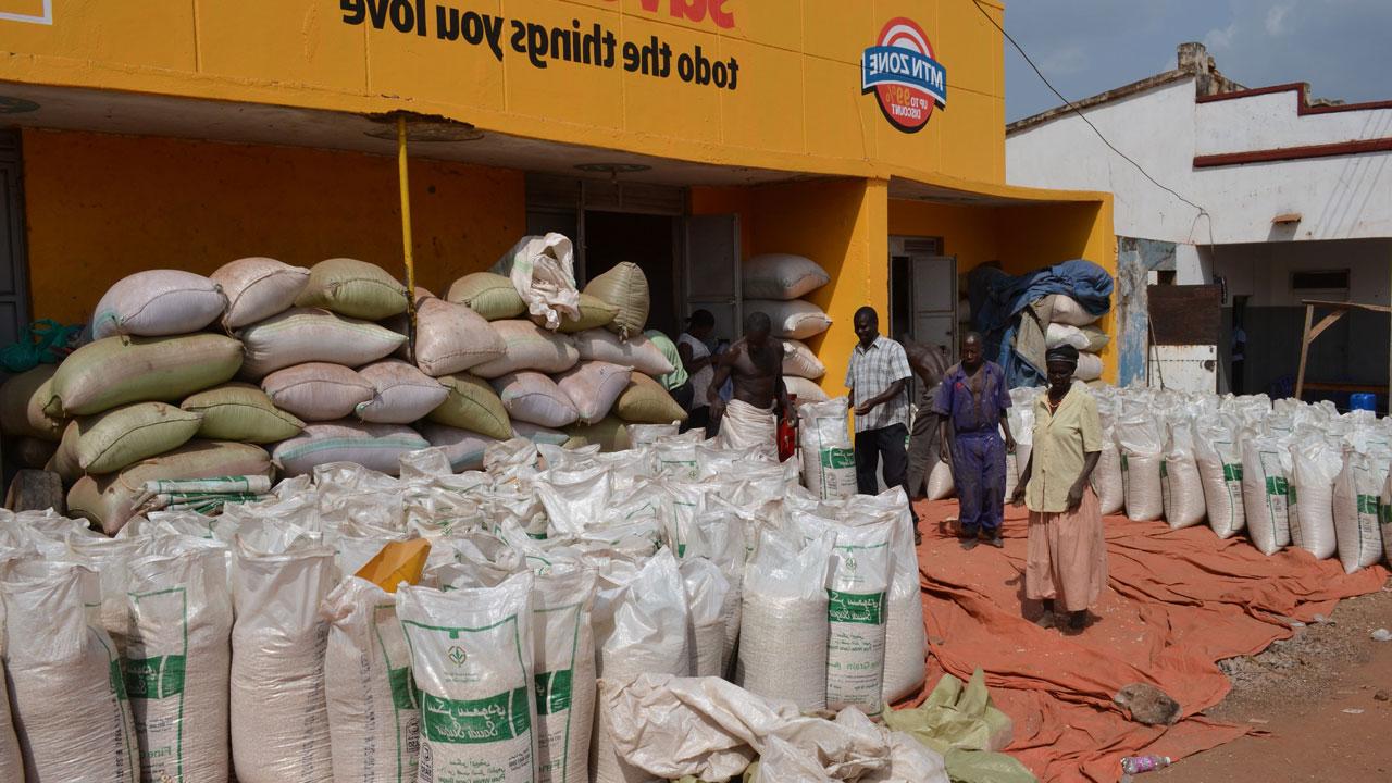
M860 91L874 92L884 117L912 134L923 130L934 106L948 103L948 72L917 22L889 20L880 42L860 59Z

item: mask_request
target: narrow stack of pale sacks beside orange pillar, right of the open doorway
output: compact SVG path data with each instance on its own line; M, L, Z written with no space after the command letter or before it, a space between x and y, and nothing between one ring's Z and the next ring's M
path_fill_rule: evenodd
M774 337L784 341L784 383L805 403L827 401L817 380L827 368L805 340L831 327L831 319L802 297L831 281L827 270L810 258L791 254L756 255L741 274L745 315L763 312L773 322Z

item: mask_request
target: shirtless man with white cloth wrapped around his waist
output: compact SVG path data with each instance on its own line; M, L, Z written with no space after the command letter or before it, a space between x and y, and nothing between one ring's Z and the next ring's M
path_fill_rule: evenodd
M745 336L715 359L715 378L707 400L711 418L720 422L720 444L725 449L757 446L778 461L778 426L775 410L791 415L788 389L782 382L784 348L771 339L768 315L752 312L745 318ZM720 398L725 380L735 385L727 404Z

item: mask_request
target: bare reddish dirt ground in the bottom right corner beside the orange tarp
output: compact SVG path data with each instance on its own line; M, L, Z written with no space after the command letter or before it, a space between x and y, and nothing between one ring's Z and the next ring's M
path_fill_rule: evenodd
M1392 780L1392 581L1339 602L1251 658L1221 662L1232 692L1207 715L1256 731L1137 783Z

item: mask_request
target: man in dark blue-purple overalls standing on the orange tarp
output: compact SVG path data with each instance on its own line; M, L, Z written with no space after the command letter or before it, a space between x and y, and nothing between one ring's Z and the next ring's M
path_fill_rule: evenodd
M942 437L958 493L958 535L967 549L976 546L977 536L1002 549L1005 453L1015 450L1015 436L1005 418L1011 407L1005 371L984 358L983 347L976 332L962 337L962 361L948 369L933 410L944 417Z

